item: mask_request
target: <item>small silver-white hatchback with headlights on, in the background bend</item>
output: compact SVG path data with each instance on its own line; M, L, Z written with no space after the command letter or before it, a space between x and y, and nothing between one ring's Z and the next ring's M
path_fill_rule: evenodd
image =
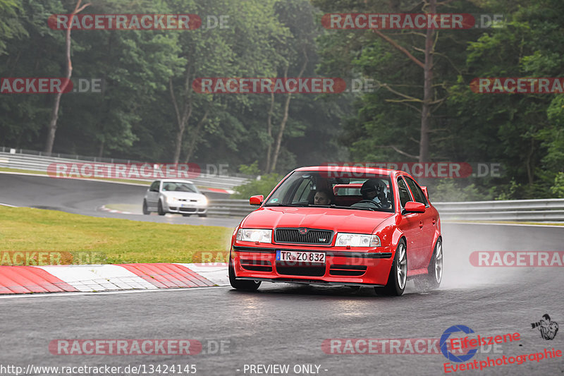
M143 214L157 212L182 214L190 217L198 214L207 217L207 198L188 180L161 179L154 181L143 199Z

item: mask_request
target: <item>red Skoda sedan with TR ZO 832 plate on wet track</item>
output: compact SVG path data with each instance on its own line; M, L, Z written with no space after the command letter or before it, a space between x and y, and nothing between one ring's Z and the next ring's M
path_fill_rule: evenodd
M302 167L250 204L260 207L231 239L235 289L271 281L374 286L400 296L408 278L426 290L441 284L439 213L427 188L403 171Z

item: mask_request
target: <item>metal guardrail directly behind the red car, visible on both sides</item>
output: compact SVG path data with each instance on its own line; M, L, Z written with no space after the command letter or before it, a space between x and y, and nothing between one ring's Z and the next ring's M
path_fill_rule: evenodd
M564 222L564 198L434 202L441 219L448 221L534 221ZM257 207L248 200L210 200L208 213L244 217Z

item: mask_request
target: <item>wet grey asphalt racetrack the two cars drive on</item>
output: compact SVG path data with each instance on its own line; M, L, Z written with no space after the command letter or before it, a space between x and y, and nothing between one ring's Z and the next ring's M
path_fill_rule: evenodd
M60 183L47 180L39 186L36 181L19 180L19 188L6 190L0 176L0 202L23 206L29 200L29 205L109 217L92 207L103 204L104 195L126 198L138 188L116 184L109 189L94 183L78 190L83 186L65 181L73 190L68 193ZM339 355L325 353L321 344L331 338L439 338L451 325L467 325L482 336L520 333L521 340L504 344L503 353L478 353L472 360L544 348L564 351L563 329L554 340L545 341L530 326L544 313L563 325L561 267L479 268L468 262L474 250L564 250L564 228L443 224L443 236L441 289L418 293L408 282L400 298L376 296L368 288L291 284L263 284L256 293L215 287L0 298L0 365L195 364L197 375L267 375L244 373L244 366L289 364L291 371L296 364L315 364L321 366L320 375L444 375L446 358L441 354ZM230 347L221 355L54 356L48 349L53 339L197 339L203 344L229 341ZM455 374L564 375L564 362L527 360Z

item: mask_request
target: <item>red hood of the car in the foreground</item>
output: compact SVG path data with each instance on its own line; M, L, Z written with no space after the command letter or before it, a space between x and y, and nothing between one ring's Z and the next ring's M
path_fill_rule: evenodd
M276 229L278 227L307 227L336 232L372 234L372 231L393 216L390 212L334 209L329 207L261 207L245 218L247 229Z

